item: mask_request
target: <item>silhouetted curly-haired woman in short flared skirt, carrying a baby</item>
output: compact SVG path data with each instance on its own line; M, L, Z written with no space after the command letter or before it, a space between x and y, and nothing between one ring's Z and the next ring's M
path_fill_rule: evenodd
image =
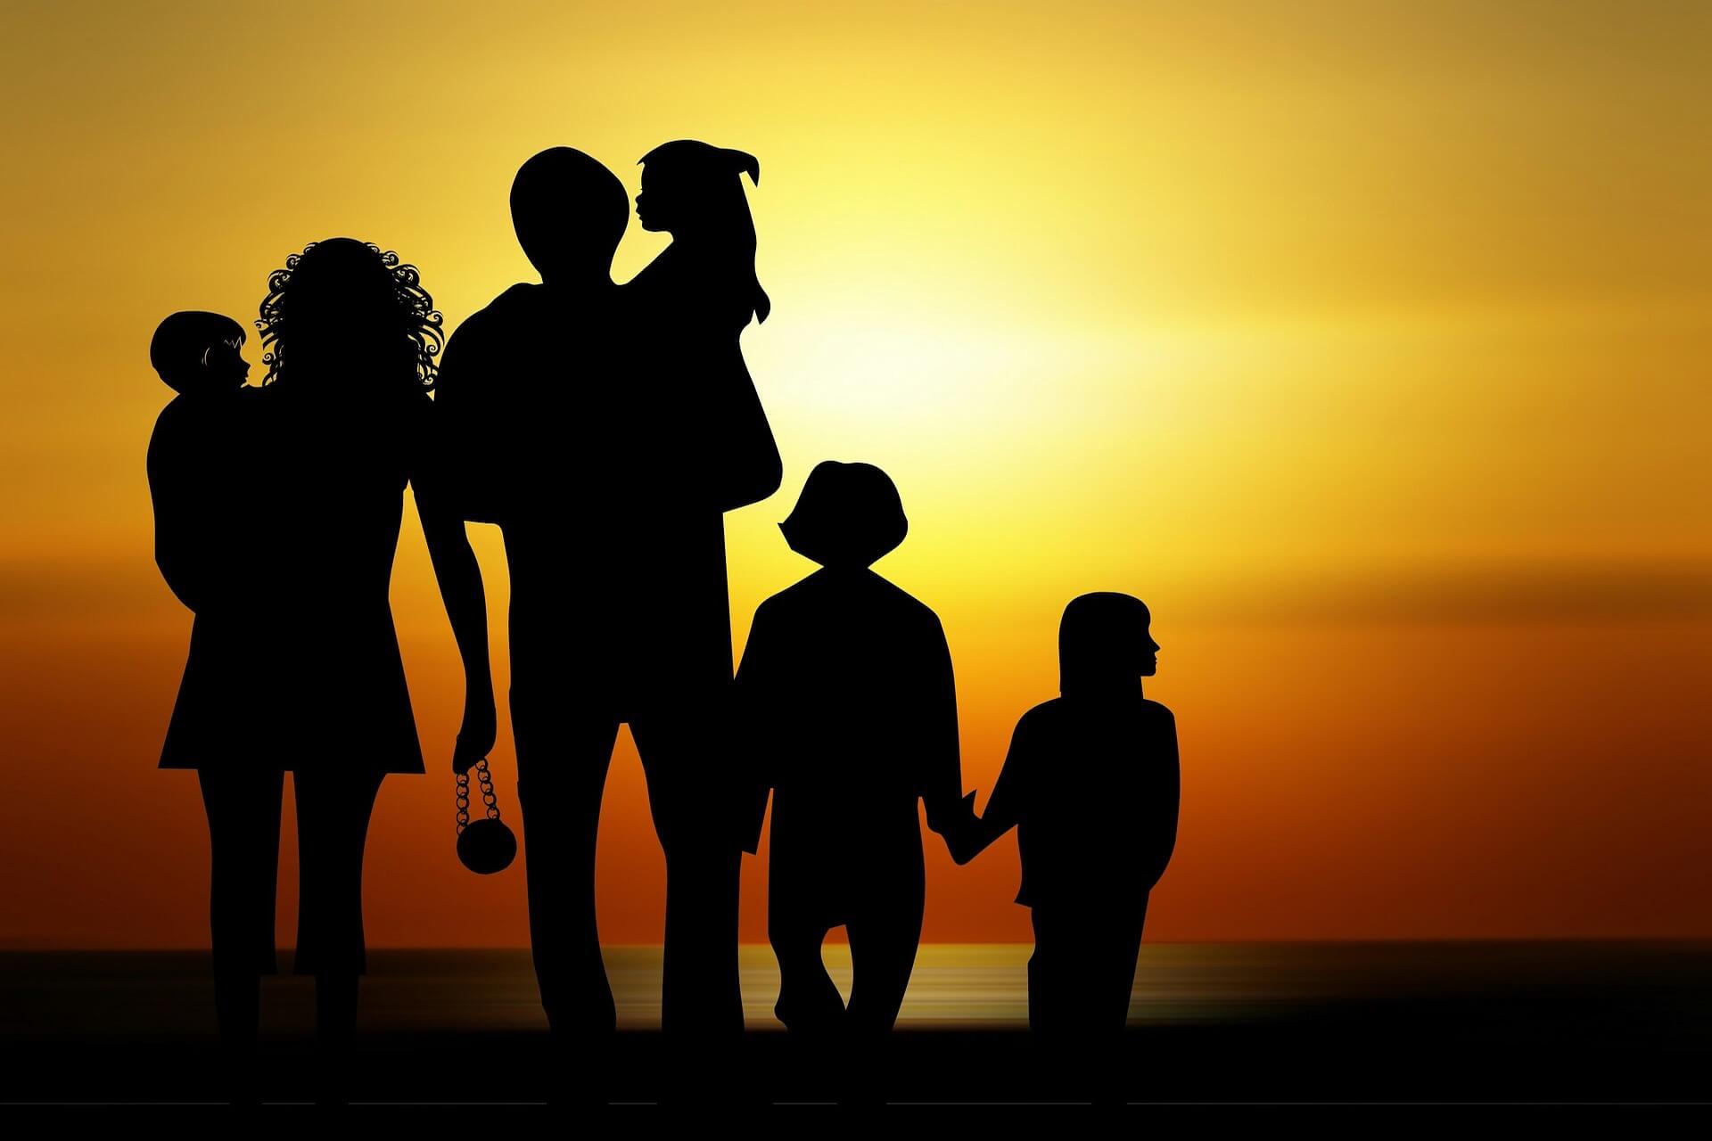
M163 763L197 768L212 840L216 989L228 1040L253 1040L259 975L274 963L281 789L293 773L300 912L294 970L315 975L317 1033L334 1055L365 973L363 847L387 773L421 773L389 585L416 494L464 657L459 751L493 744L481 580L435 481L433 358L440 315L416 269L334 238L286 258L262 303L269 352L248 607L248 732ZM462 554L461 554L462 551Z

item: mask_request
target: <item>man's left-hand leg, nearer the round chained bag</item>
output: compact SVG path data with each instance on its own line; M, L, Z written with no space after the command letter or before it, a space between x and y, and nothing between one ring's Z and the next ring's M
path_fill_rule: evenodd
M616 1009L594 919L594 847L618 720L577 712L574 698L560 710L568 712L543 724L512 691L529 944L555 1037L606 1037Z

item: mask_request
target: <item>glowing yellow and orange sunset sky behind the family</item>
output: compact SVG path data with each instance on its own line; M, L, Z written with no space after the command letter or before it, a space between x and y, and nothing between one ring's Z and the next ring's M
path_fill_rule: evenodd
M1712 936L1712 5L844 7L0 7L0 946L207 944L195 777L156 770L190 631L156 322L248 325L354 236L455 328L534 279L524 159L635 193L683 137L762 171L743 346L784 488L728 515L740 648L811 570L776 527L808 470L873 462L983 802L1065 602L1152 606L1183 823L1149 939ZM616 277L663 239L632 222ZM524 944L520 864L455 862L411 506L392 599L430 775L382 789L370 943ZM599 860L603 937L657 943L628 736ZM1012 840L928 879L926 939L1029 937Z

